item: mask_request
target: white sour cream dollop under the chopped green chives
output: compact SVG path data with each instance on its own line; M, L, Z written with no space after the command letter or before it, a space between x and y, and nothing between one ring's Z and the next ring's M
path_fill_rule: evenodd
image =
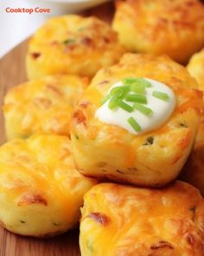
M127 112L123 108L116 108L111 110L108 108L108 104L110 100L105 102L100 108L97 109L95 113L95 117L99 119L99 121L103 121L107 124L118 125L121 128L126 129L128 132L134 135L140 135L146 132L150 132L155 130L156 128L160 128L163 124L168 121L170 115L175 110L175 95L172 89L170 89L166 84L162 82L158 82L152 80L150 78L143 78L147 82L151 83L151 87L146 88L146 98L147 104L145 107L151 108L153 111L152 115L144 115L143 113L134 110L133 112ZM108 93L114 87L118 87L123 85L122 82L116 82L112 85L111 89L109 89ZM152 95L153 91L160 91L167 95L169 95L168 101L164 101L162 99L156 98ZM128 105L133 106L134 102L123 102ZM136 131L131 127L131 124L127 121L130 117L133 117L139 126L141 127L140 131Z

